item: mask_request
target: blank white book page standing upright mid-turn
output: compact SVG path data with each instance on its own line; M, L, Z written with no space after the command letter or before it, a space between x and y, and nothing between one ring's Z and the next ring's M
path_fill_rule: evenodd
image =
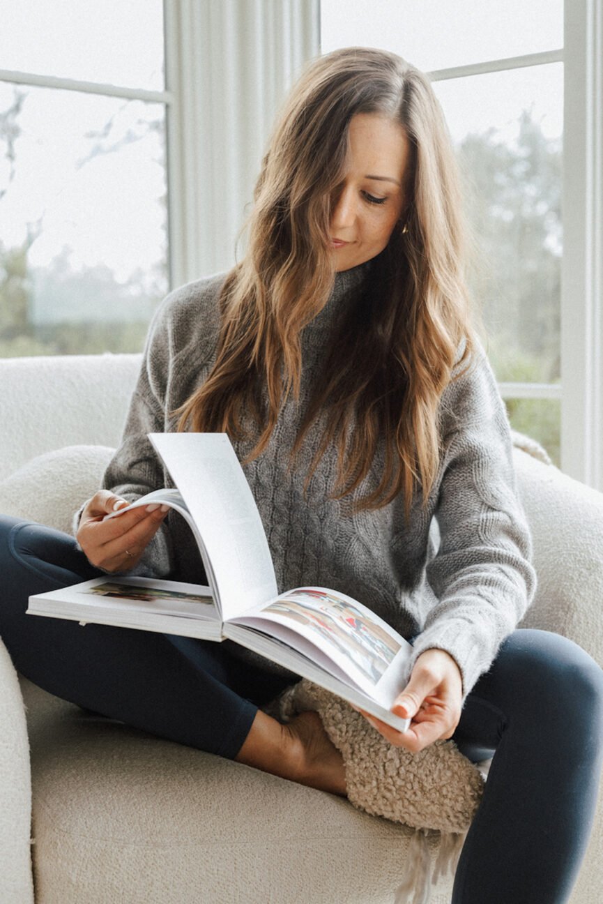
M226 621L278 593L264 526L225 433L152 433L203 538L208 580Z

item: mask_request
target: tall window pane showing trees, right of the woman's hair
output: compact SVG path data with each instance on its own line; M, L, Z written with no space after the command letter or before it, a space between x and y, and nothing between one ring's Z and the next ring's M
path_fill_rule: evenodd
M560 379L561 63L435 82L466 178L500 381Z

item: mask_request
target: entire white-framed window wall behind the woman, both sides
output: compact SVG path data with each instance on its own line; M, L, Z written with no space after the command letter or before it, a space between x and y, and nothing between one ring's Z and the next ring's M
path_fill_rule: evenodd
M230 267L274 114L321 42L432 73L513 425L603 489L603 0L9 5L0 354L135 350L168 274Z

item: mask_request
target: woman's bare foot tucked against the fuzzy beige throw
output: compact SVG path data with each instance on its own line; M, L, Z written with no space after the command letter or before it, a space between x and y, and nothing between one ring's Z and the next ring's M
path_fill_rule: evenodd
M345 796L344 760L329 739L318 713L301 712L283 728L298 749L298 773L292 776L294 781Z

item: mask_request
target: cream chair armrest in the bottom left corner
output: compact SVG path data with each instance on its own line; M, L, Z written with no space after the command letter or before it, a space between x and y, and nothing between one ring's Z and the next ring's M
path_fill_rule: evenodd
M0 900L33 904L32 788L24 702L0 640Z

